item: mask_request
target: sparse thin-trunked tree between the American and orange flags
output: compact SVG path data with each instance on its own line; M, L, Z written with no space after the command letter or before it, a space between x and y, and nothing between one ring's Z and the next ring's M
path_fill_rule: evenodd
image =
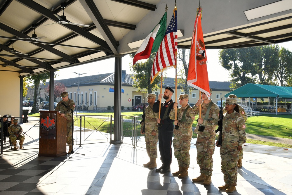
M183 69L178 68L177 65L177 70L178 70L178 86L182 87L182 91L184 90L185 94L190 94L192 90L194 90L193 87L187 84L187 74L189 70L189 55L186 54L186 51L189 52L190 50L188 49L178 49L178 55L177 55L177 60L181 61L183 63Z

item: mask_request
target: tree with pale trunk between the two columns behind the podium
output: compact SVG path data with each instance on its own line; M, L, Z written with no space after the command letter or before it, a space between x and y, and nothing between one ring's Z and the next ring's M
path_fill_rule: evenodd
M50 73L42 73L38 75L32 75L27 77L27 81L29 83L33 83L34 85L34 105L32 106L31 113L39 113L39 101L40 101L40 93L41 93L41 81L46 82L47 79L50 78Z

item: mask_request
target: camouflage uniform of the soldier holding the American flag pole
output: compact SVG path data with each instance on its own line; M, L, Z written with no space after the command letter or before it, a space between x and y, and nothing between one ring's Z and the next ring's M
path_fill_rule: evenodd
M174 139L173 139L173 148L174 148L174 157L178 160L178 166L180 167L190 167L190 146L191 139L193 135L192 124L194 122L194 117L190 116L191 107L187 106L177 108L177 118L178 118L178 129L173 130ZM185 114L185 121L180 122L183 117L185 109L188 109ZM175 108L171 109L169 113L169 118L176 120L175 118Z

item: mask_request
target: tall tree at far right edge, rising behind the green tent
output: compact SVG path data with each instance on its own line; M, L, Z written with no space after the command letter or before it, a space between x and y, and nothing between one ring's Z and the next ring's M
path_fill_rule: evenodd
M280 81L281 86L290 83L292 74L292 53L288 49L281 47L279 51L279 64L275 70L275 77Z

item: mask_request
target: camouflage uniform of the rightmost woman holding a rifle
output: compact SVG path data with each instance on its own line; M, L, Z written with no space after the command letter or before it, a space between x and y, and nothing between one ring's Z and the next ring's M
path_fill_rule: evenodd
M224 182L230 186L237 183L237 161L239 159L238 146L246 141L244 118L235 110L233 113L223 114L222 146L220 148L221 171Z

